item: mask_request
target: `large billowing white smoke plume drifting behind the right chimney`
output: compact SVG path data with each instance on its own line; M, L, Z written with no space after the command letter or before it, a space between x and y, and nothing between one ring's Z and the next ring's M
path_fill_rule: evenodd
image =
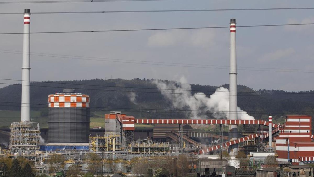
M184 77L181 77L179 81L170 81L169 83L160 80L154 80L153 83L176 109L188 108L193 110L191 112L191 118L193 119L206 118L204 111L211 111L217 119L229 119L229 90L227 88L217 88L214 94L207 97L202 92L192 95L191 85L187 83ZM252 120L254 117L238 107L238 119Z

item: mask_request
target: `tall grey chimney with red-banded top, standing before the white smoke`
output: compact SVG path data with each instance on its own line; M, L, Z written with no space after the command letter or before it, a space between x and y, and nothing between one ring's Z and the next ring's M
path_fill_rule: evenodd
M229 119L238 119L237 106L237 82L236 82L236 19L230 19L230 73L229 73ZM229 125L229 139L238 138L238 126ZM238 154L238 144L229 147L229 154Z

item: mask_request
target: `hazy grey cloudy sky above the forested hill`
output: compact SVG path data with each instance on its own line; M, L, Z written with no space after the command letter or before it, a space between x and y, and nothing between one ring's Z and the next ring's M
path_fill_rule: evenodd
M314 7L314 2L170 0L28 3L1 4L0 11L9 13L24 12L24 9L30 9L31 12L61 12L296 7ZM237 26L314 23L313 11L314 9L32 14L30 30L44 32L211 27L229 26L230 19L236 19ZM23 32L23 14L0 15L0 24L0 33ZM255 90L313 90L313 27L304 25L237 28L238 84ZM22 51L22 41L22 34L0 35L0 78L21 79L22 55L19 52ZM111 76L122 79L178 80L185 77L189 83L219 86L229 83L229 45L229 28L31 34L31 53L43 53L31 55L31 80L109 79ZM57 55L62 56L56 57ZM183 67L183 64L190 67ZM19 82L1 80L0 83ZM6 85L0 84L0 87L4 86Z

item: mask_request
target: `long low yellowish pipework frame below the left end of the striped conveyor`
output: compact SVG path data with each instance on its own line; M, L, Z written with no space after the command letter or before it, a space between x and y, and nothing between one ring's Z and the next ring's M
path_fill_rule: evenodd
M157 142L157 141L132 141L130 144L131 153L134 154L153 154L153 153L161 153L167 154L169 153L169 142Z

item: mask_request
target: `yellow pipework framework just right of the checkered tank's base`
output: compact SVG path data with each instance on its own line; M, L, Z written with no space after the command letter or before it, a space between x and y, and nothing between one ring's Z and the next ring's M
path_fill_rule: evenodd
M107 133L106 136L90 136L89 149L92 151L121 151L121 136Z

